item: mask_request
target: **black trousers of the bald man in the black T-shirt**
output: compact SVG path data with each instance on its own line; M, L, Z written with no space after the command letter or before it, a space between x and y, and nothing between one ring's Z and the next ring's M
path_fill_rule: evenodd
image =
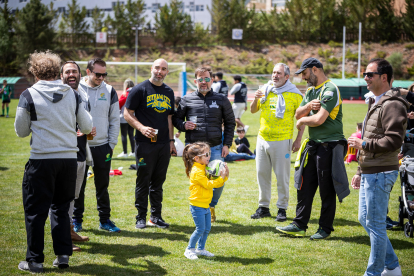
M135 187L135 207L137 220L146 219L148 196L151 203L151 216L161 218L162 185L170 163L170 143L152 144L137 142L137 181Z

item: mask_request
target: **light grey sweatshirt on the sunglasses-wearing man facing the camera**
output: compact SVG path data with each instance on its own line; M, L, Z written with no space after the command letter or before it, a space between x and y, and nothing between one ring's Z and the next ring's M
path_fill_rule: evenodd
M115 89L104 81L96 87L87 84L88 77L81 79L79 90L88 96L91 105L93 126L96 127L96 136L89 140L89 146L97 147L109 143L114 149L119 135L119 103Z

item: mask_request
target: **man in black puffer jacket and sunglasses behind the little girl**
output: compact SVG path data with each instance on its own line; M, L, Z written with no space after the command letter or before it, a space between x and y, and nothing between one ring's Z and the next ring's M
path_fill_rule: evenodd
M224 94L213 92L210 68L200 67L195 71L194 83L197 91L185 95L173 116L174 126L185 132L185 143L207 142L211 147L210 160L220 159L229 154L233 141L236 121L230 101ZM195 118L195 123L190 121ZM224 125L224 130L222 130ZM224 187L224 185L223 185ZM215 221L215 206L223 187L213 190L210 203L211 220Z

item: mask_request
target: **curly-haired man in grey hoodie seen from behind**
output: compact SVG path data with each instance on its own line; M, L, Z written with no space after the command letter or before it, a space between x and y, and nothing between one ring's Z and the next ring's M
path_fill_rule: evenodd
M70 86L57 80L58 55L35 52L29 71L37 83L25 90L16 111L15 130L19 137L32 133L29 161L23 176L23 206L27 232L26 261L20 270L43 272L44 226L50 208L53 266L66 268L72 255L69 204L75 197L76 122L85 133L92 130L92 118Z

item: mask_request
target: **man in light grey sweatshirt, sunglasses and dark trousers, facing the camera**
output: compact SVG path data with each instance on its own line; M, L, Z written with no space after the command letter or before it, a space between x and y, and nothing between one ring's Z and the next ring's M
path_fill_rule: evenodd
M96 136L88 143L94 163L93 172L100 221L99 229L109 232L121 232L109 219L111 207L108 193L112 153L118 143L118 95L115 89L104 81L104 78L108 75L105 61L100 58L90 60L86 73L88 76L81 79L79 92L88 97L93 125L96 127ZM88 170L88 166L86 170ZM76 232L82 230L83 212L85 210L85 186L86 179L82 183L79 198L75 200L73 224Z

